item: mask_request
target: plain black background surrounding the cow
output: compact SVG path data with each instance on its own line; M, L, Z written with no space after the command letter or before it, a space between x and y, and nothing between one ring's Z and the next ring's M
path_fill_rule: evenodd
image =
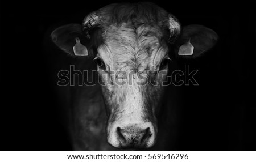
M1 150L71 150L59 117L49 33L113 2L1 2ZM256 150L255 2L152 2L182 25L202 24L220 36L211 52L191 62L200 86L183 87L176 149Z

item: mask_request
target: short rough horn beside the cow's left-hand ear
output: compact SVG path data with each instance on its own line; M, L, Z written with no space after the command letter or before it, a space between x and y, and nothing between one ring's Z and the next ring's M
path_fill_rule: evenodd
M88 39L90 39L89 31L92 27L96 27L99 22L99 16L97 12L91 12L87 16L85 16L84 20L82 21L82 29L85 32L85 35Z

